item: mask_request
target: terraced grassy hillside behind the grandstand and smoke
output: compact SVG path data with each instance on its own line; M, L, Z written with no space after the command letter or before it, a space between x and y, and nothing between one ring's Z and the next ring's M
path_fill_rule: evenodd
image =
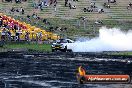
M35 1L37 2L38 0ZM66 27L67 31L54 30L54 32L66 37L96 36L96 34L98 34L98 29L101 26L120 27L124 30L131 29L132 10L127 10L126 8L129 4L129 0L116 0L116 4L110 3L111 8L104 8L103 3L106 1L107 0L79 0L78 2L73 3L76 5L76 9L69 9L69 7L64 6L64 0L58 0L56 12L54 11L53 5L44 7L42 11L34 9L33 0L28 0L27 2L22 2L20 4L16 4L15 2L2 3L0 1L0 12L46 30L49 30L50 27ZM95 2L95 5L98 8L103 8L105 12L83 12L83 8L90 7L91 2ZM11 13L10 9L12 7L23 7L25 14ZM35 23L35 21L32 20L31 22L28 22L26 16L32 15L33 12L36 12L41 18L47 19L50 22L50 25L45 25L42 21ZM79 18L84 16L86 17L85 23L82 20L79 21ZM97 19L102 20L103 24L96 25L95 21Z

